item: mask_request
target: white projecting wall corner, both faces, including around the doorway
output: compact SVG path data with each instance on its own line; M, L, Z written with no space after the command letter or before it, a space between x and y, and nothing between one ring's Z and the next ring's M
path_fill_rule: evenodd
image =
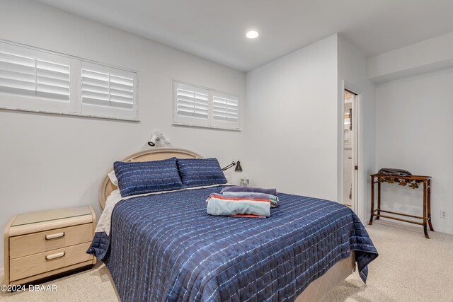
M343 196L343 81L362 93L362 180L357 213L369 213L375 170L374 84L367 59L332 35L247 74L244 127L251 185L334 201Z

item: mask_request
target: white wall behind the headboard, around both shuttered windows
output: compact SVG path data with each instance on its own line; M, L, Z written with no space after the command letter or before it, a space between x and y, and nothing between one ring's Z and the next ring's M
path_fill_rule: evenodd
M113 161L148 148L153 129L173 146L217 157L222 165L242 159L241 132L171 125L173 79L244 101L242 72L35 1L1 0L0 38L139 71L141 120L0 111L1 228L13 214L28 211L91 204L99 214L104 173ZM3 240L0 250L3 259Z

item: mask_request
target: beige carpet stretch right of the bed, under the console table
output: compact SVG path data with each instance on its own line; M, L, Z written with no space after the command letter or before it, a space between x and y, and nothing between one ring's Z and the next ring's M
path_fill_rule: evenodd
M357 272L328 294L331 301L453 301L453 236L421 227L374 221L367 226L379 257L367 285Z

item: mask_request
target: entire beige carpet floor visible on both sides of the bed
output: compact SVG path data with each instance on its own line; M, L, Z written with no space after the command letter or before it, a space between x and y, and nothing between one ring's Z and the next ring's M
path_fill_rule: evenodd
M337 286L331 301L453 301L453 236L377 221L367 226L379 251L367 285L357 272ZM3 279L3 277L0 277ZM0 301L118 301L108 269L93 269L47 282L57 291L1 293Z

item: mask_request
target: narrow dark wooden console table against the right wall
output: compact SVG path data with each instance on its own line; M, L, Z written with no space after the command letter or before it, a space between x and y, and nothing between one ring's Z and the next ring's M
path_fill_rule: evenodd
M373 223L373 216L376 216L376 220L379 217L384 217L387 219L395 219L399 221L404 221L408 223L415 223L420 226L423 226L423 231L425 232L425 238L430 238L428 236L428 225L430 230L434 231L431 224L431 176L421 176L421 175L412 175L412 176L393 176L393 175L379 175L372 174L371 177L371 216L369 217L369 225ZM375 180L376 179L376 180ZM413 189L418 189L420 184L423 183L423 217L413 216L403 213L397 213L393 211L384 211L381 209L381 184L382 182L388 182L389 184L398 184L401 186L408 185ZM377 183L377 209L374 209L374 184ZM396 214L400 216L411 217L413 219L421 219L423 222L411 221L407 219L401 219L398 217L382 215L381 213Z

